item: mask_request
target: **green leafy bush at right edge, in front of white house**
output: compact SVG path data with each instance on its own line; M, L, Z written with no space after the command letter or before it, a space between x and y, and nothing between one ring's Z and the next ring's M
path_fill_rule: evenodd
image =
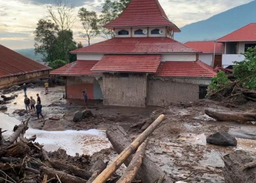
M233 66L234 76L239 84L247 89L256 90L256 47L248 48L244 53L245 60L235 62Z

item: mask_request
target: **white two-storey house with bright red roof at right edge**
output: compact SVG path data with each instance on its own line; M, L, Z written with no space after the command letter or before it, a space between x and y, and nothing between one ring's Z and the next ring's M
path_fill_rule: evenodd
M250 23L236 31L227 34L216 43L224 44L224 54L222 55L222 66L232 68L234 61L244 60L244 53L248 48L256 46L256 23Z

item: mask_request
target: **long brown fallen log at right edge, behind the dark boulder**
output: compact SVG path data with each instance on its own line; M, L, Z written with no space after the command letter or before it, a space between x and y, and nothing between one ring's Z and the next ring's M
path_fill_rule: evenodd
M205 114L219 121L237 121L237 122L247 122L255 121L256 113L247 112L218 112L211 109L205 109Z

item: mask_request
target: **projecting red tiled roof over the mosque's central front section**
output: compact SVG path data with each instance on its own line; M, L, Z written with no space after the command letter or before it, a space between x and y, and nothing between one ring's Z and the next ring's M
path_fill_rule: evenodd
M155 73L160 62L160 54L106 54L92 71Z

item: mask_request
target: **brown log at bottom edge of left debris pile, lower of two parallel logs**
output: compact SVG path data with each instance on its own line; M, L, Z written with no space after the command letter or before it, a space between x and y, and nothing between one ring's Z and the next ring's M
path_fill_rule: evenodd
M42 175L46 174L48 178L56 177L57 174L61 180L61 183L86 183L86 180L80 177L75 177L65 172L57 171L55 169L51 169L45 166L40 167L40 172Z

